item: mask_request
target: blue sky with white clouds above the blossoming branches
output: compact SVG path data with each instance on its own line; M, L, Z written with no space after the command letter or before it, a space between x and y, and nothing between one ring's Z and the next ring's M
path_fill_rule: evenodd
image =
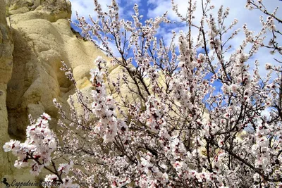
M72 3L72 20L75 20L75 11L78 11L78 14L81 16L85 16L85 18L88 18L88 15L92 15L93 18L95 18L95 13L93 11L94 9L94 0L70 0ZM99 0L98 0L99 1ZM171 20L179 20L176 13L174 13L171 10L171 0L116 0L119 5L119 13L120 17L124 18L125 20L130 20L130 16L133 15L133 6L134 4L138 4L140 8L140 14L144 15L144 20L147 18L154 18L158 15L162 15L166 11L168 11L168 18ZM199 23L201 18L200 13L200 2L197 1L197 5L199 5L195 13L195 23ZM282 1L278 0L264 0L264 5L268 8L269 12L272 12L274 8L277 6L282 6ZM100 4L102 4L103 10L107 10L106 5L111 5L111 0L100 0ZM175 3L178 4L179 12L182 15L185 15L186 10L188 8L188 1L185 0L175 0ZM246 0L212 0L212 4L214 5L214 15L216 17L217 11L221 5L223 5L223 10L227 7L230 8L230 14L228 16L228 19L225 21L226 26L228 26L229 23L233 21L234 18L238 19L239 22L235 26L235 29L242 28L242 26L247 23L247 27L249 30L252 30L255 32L259 32L259 29L261 28L261 24L259 22L259 16L263 15L260 11L253 10L249 11L245 8ZM277 15L282 15L282 8L281 10L278 10ZM282 16L281 16L282 17ZM188 28L184 24L174 24L174 25L162 25L163 27L159 28L159 36L164 37L164 40L166 42L170 42L171 39L171 30L174 30L176 32L179 32L180 30L188 30ZM278 28L282 30L282 25L276 25ZM197 37L197 31L195 30L192 32L192 35ZM233 46L233 49L237 49L238 46L241 44L243 39L245 38L245 35L242 32L235 37L231 41L231 45ZM233 52L233 51L231 51ZM228 54L227 54L228 56ZM275 56L271 56L269 54L269 49L261 49L259 53L257 53L250 61L250 65L254 65L255 59L259 60L259 63L261 65L260 72L262 75L266 73L264 69L264 65L266 63L271 64L277 64L274 61L274 57L281 59L281 56L278 56L276 53Z

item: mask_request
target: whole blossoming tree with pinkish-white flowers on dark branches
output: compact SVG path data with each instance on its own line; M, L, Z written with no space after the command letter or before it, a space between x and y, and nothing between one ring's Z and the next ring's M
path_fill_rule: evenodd
M266 64L269 73L261 77L259 61L250 59L265 47L282 54L277 9L271 13L262 0L247 0L246 8L259 9L267 18L261 18L256 35L244 25L245 39L232 51L227 43L237 35L238 21L224 25L228 8L221 6L215 17L209 14L211 2L202 0L202 19L195 25L192 0L185 16L171 2L188 33L173 32L170 45L157 37L161 23L172 24L166 14L142 23L135 5L133 22L125 21L115 0L107 12L94 0L97 20L87 23L78 16L82 34L112 58L112 65L121 66L121 77L118 82L107 77L106 62L98 57L90 71L92 98L76 89L82 114L73 99L70 114L54 100L62 139L49 129L50 116L44 113L30 118L24 143L4 145L18 156L17 168L29 166L33 175L45 168L51 173L46 182L61 187L282 186L282 69ZM271 34L268 43L266 33ZM247 61L255 63L252 72ZM62 70L75 85L65 63ZM222 86L220 92L214 92L214 82ZM137 96L134 100L125 99L121 83ZM58 158L67 162L58 166Z

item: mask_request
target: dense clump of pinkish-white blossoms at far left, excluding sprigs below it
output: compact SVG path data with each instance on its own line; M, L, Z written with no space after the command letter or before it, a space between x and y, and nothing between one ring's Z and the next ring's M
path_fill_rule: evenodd
M4 145L4 151L12 151L13 155L18 156L15 167L32 166L30 173L33 175L39 175L42 168L50 164L51 153L56 149L56 139L48 124L51 118L47 113L41 116L32 125L27 126L27 139L24 143L11 140Z

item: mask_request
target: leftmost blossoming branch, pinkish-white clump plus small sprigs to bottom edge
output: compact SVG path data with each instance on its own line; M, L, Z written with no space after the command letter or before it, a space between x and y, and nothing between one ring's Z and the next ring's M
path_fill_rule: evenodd
M77 187L77 184L71 184L71 178L61 179L61 173L67 175L73 163L61 164L58 169L54 166L51 159L52 153L56 150L56 135L49 128L48 120L50 115L43 113L36 121L30 117L31 125L27 126L26 137L24 143L18 140L10 140L4 145L4 151L12 151L13 155L18 157L15 161L16 168L31 167L31 175L39 175L45 168L53 175L47 175L45 182L60 182L60 187ZM50 164L54 169L49 168ZM51 184L50 184L51 187Z

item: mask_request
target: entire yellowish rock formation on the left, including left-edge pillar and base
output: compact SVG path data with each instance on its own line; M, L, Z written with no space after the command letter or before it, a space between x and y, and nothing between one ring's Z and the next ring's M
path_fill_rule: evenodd
M10 0L6 6L5 0L0 0L1 148L10 137L25 139L28 114L37 118L49 113L56 129L58 113L52 100L66 103L74 93L73 85L60 70L61 61L73 69L78 87L83 89L90 87L87 80L94 59L106 58L92 42L73 34L70 18L71 3L66 0ZM1 149L0 178L35 180L28 170L14 168L14 161Z

